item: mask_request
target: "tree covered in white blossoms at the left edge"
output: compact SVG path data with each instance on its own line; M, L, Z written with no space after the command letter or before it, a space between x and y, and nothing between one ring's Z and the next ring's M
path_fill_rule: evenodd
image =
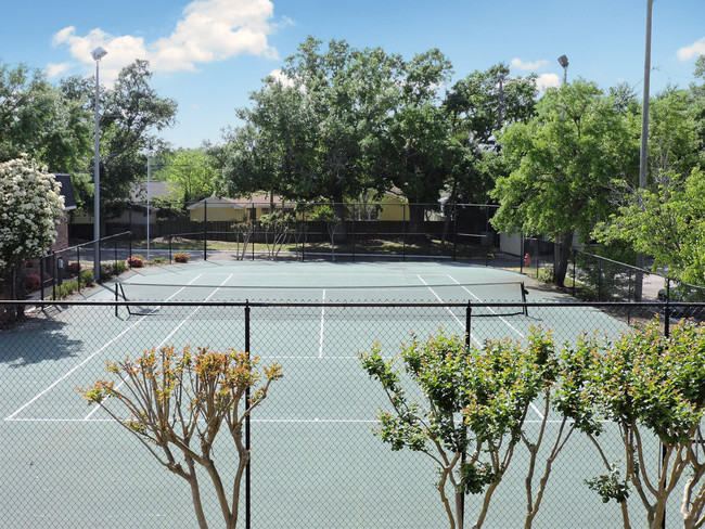
M20 264L53 244L64 198L47 168L23 156L0 164L0 279L12 278L22 294Z

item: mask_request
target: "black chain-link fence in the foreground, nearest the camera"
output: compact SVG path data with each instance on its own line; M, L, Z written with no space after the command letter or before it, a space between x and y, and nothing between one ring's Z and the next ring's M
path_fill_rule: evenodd
M553 328L559 343L575 339L581 331L616 336L654 312L662 313L668 333L671 311L680 306L470 301L26 305L28 319L0 332L0 525L8 529L196 527L185 481L157 464L145 447L106 414L87 407L75 390L100 378L113 379L105 372L106 359L134 357L164 344L179 348L209 345L216 350L231 347L261 357L264 364L277 361L283 366L284 378L272 385L247 426L252 462L241 491L238 527L444 527L447 519L434 487L434 465L421 454L390 450L372 433L377 409L387 403L361 369L357 351L379 341L383 353L392 357L410 332L425 337L439 326L478 341L521 339L521 330L529 325ZM138 308L150 315L138 315ZM491 311L507 308L520 309L510 312L521 315L491 317ZM536 434L530 425L527 428L527 435ZM607 428L603 436L610 461L617 460L618 431ZM216 450L228 475L234 459L231 450L228 443ZM520 447L516 450L512 470L497 489L483 527L524 526L528 460L518 454ZM656 442L651 450L649 461L655 468L659 461ZM603 503L585 482L604 473L594 448L576 433L553 462L534 527L621 527L618 505ZM201 479L207 482L207 476ZM219 527L213 490L203 487L206 516L211 527ZM680 495L671 494L666 527L681 527ZM478 498L465 499L466 527L480 508ZM629 511L632 524L645 521L638 498L629 499Z

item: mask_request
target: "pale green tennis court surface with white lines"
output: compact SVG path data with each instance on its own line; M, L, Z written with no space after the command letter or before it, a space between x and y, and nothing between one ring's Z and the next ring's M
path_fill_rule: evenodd
M450 262L200 262L136 271L123 279L118 294L136 301L253 304L251 352L262 363L281 363L284 378L253 416L252 527L428 528L447 524L434 467L423 455L390 451L372 435L375 413L387 402L356 353L380 341L390 357L410 333L423 337L438 327L462 334L469 302L475 344L523 339L533 325L552 328L559 340L584 330L616 335L628 328L590 307L530 307L528 314L500 315L516 308L472 306L518 302L524 280ZM530 302L565 299L526 287ZM85 298L113 300L114 285L98 286ZM336 306L450 301L462 306ZM273 305L282 302L290 305ZM317 305L291 306L295 302ZM86 405L75 388L111 379L106 359L153 346L244 349L244 330L243 306L144 305L131 314L125 307L117 314L108 306L50 308L0 333L0 527L195 527L185 481L163 469L102 410ZM540 420L538 409L533 413L529 429ZM226 472L232 469L229 450L222 442L216 451ZM584 483L603 472L592 450L577 435L568 442L535 527L620 524L618 508L602 504ZM524 468L521 460L513 465L484 527L522 525L524 495L516 491L523 490ZM205 486L205 495L210 492ZM469 521L476 502L467 498ZM211 527L220 527L216 502L207 498L206 509Z

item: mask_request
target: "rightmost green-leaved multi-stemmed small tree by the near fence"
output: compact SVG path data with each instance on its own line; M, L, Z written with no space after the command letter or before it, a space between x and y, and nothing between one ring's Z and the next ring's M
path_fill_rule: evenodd
M683 320L668 337L659 327L655 320L614 343L579 340L576 354L589 365L580 400L614 422L624 449L624 480L613 467L590 485L605 502L620 504L625 528L636 492L650 529L662 527L668 499L680 488L683 527L693 529L705 525L705 325ZM600 438L592 439L599 447Z

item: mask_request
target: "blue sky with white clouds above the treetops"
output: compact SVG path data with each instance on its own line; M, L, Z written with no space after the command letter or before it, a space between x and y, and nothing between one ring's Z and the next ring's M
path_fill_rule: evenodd
M90 50L103 46L101 81L134 59L148 59L153 87L179 103L178 125L164 132L174 146L219 142L238 125L234 109L312 35L382 47L410 59L440 49L456 78L498 62L512 75L539 75L556 86L580 76L607 88L643 90L646 0L123 0L3 2L0 61L44 69L52 79L92 75ZM705 54L705 1L655 0L654 94L685 87Z

